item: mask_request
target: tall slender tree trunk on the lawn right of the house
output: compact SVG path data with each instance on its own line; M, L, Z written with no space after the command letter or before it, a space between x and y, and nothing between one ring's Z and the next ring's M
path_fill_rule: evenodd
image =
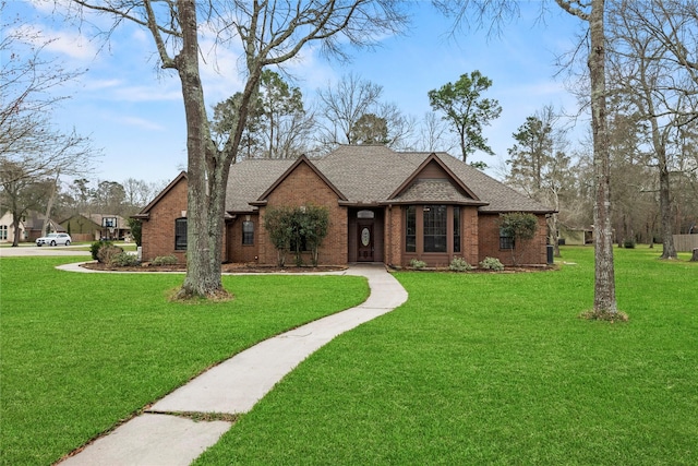
M611 227L611 170L606 123L604 0L592 0L589 17L591 51L591 127L594 168L594 300L598 313L617 312Z

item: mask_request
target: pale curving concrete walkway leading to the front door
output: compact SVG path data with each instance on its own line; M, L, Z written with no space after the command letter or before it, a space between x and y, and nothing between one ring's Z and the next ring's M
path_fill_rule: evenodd
M176 414L248 413L284 375L320 347L407 301L407 291L383 265L356 265L333 274L365 276L371 287L369 299L356 308L311 322L236 355L61 465L189 465L214 445L230 429L231 422L195 422Z

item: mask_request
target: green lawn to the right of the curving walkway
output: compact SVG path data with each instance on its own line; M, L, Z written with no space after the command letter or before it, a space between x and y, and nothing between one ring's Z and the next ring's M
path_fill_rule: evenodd
M558 272L396 274L401 308L311 356L196 465L698 464L698 263L616 251L628 323ZM575 263L575 264L570 264Z

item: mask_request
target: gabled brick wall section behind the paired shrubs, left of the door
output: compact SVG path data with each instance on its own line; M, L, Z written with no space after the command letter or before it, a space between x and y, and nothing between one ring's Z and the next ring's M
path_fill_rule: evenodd
M318 264L346 264L348 262L348 212L339 206L337 194L311 169L301 163L281 181L267 198L267 205L260 208L261 223L264 224L264 213L267 207L300 206L313 204L327 207L329 211L329 231L325 237L320 254ZM258 229L258 258L261 264L276 264L277 251L268 240L264 228ZM287 263L293 263L293 256L287 256ZM310 253L303 255L303 263L311 263Z

